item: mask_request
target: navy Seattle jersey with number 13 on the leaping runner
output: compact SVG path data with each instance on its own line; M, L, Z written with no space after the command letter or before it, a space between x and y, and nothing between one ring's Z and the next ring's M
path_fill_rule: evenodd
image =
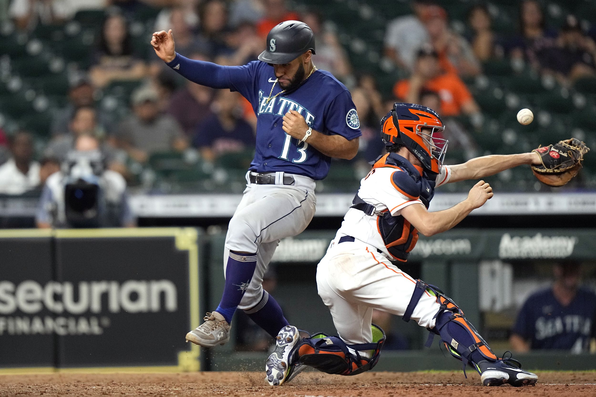
M229 88L249 100L257 115L256 152L250 170L284 171L317 180L327 176L331 158L282 129L284 114L290 110L300 112L313 130L325 135L341 135L348 140L361 136L350 92L328 71L316 70L298 89L269 99L276 77L273 67L265 62L220 66L176 54L167 65L195 83ZM275 84L271 97L281 90Z

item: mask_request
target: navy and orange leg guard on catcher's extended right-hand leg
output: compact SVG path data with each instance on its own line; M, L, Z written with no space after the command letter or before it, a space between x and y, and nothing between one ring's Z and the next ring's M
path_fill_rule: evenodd
M477 362L497 360L496 355L491 351L486 341L465 318L464 312L442 290L433 285L426 284L421 280L417 281L412 298L403 314L404 321L409 321L424 291L436 296L437 303L440 304L439 311L434 315L434 318L436 318L434 328L429 329L430 335L426 342L427 347L432 345L434 335L439 335L449 353L464 364L464 375L465 365L467 364L470 364L472 368L480 373L476 365Z

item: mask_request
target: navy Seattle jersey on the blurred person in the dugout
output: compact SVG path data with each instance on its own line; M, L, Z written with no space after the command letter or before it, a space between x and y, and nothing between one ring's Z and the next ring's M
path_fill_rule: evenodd
M530 340L532 349L588 351L596 335L596 294L580 288L566 307L555 299L552 289L530 295L517 315L513 333Z

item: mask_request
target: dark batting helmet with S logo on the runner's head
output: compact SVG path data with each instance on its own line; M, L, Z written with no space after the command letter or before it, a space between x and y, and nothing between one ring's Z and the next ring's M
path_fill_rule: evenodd
M300 21L284 21L267 35L267 49L259 55L259 61L268 64L287 64L311 50L315 54L315 35L307 24Z

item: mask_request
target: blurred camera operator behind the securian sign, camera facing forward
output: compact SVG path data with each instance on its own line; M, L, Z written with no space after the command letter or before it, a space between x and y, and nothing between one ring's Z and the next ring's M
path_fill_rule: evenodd
M61 170L48 177L35 220L41 228L135 226L126 181L107 170L96 137L76 138Z

